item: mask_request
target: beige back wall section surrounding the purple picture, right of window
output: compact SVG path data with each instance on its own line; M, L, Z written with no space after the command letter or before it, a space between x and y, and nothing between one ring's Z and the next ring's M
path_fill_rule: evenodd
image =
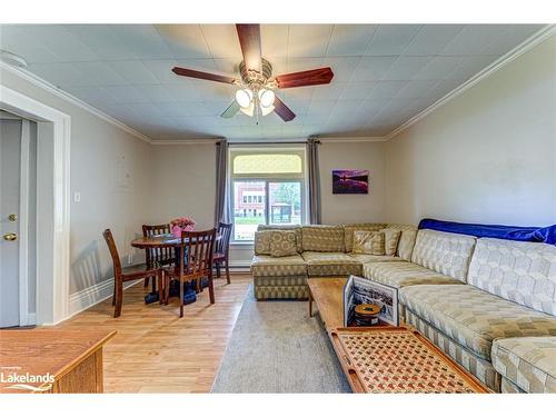
M384 221L385 142L326 141L319 148L322 222ZM332 195L332 169L369 170L368 195Z

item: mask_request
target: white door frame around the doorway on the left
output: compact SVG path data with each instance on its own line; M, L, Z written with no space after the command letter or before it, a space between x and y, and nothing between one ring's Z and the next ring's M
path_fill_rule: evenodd
M71 117L1 85L0 106L37 122L36 320L56 325L69 315Z

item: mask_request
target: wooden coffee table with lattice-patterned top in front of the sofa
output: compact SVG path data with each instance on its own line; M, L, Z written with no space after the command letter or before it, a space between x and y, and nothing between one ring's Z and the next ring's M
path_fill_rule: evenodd
M309 278L309 316L318 307L354 393L489 393L408 325L344 327L347 278Z

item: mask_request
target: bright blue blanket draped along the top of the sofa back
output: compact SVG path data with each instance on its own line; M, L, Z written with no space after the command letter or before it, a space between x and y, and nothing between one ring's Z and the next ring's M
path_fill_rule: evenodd
M475 225L423 219L419 229L433 229L451 234L470 235L477 238L536 241L556 245L556 225L547 227L519 227L500 225Z

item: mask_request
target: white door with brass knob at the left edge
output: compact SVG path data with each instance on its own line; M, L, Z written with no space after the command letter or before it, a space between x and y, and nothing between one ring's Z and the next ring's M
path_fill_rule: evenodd
M21 120L0 119L0 328L20 324Z

